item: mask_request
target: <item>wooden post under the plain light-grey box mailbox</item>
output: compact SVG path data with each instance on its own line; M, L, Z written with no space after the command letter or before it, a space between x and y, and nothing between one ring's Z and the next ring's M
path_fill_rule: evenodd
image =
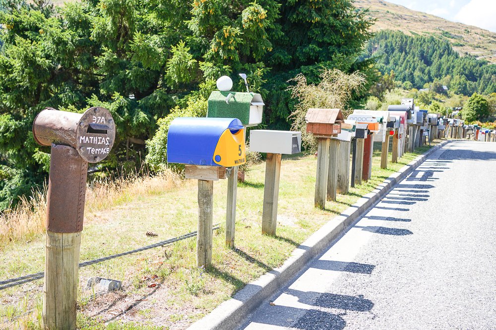
M263 190L262 234L276 235L280 174L281 154L267 153L265 189Z

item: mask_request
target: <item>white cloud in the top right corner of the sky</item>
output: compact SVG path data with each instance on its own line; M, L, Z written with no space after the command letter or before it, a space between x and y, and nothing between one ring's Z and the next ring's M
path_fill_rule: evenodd
M454 19L468 25L496 32L496 1L471 0L464 5Z

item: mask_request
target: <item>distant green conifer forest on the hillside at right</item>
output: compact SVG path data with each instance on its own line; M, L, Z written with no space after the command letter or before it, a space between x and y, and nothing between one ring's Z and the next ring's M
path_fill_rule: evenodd
M434 82L434 88L440 88L436 92L442 92L442 85L456 94L496 92L496 65L461 57L444 40L381 31L369 41L366 53L365 58L377 58L382 73L393 70L396 80L411 82L417 89Z

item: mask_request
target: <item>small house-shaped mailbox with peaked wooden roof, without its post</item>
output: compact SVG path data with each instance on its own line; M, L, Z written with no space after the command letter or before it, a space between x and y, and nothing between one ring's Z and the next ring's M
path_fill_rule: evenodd
M341 133L343 114L339 109L311 108L305 115L307 133L316 138L331 138Z

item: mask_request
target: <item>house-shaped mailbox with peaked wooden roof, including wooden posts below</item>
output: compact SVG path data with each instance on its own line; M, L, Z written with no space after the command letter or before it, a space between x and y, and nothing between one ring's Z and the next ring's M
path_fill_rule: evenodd
M331 138L341 133L343 114L339 109L308 109L307 133L318 140L315 207L325 208L326 199L336 200L339 142ZM328 187L330 185L330 188Z

